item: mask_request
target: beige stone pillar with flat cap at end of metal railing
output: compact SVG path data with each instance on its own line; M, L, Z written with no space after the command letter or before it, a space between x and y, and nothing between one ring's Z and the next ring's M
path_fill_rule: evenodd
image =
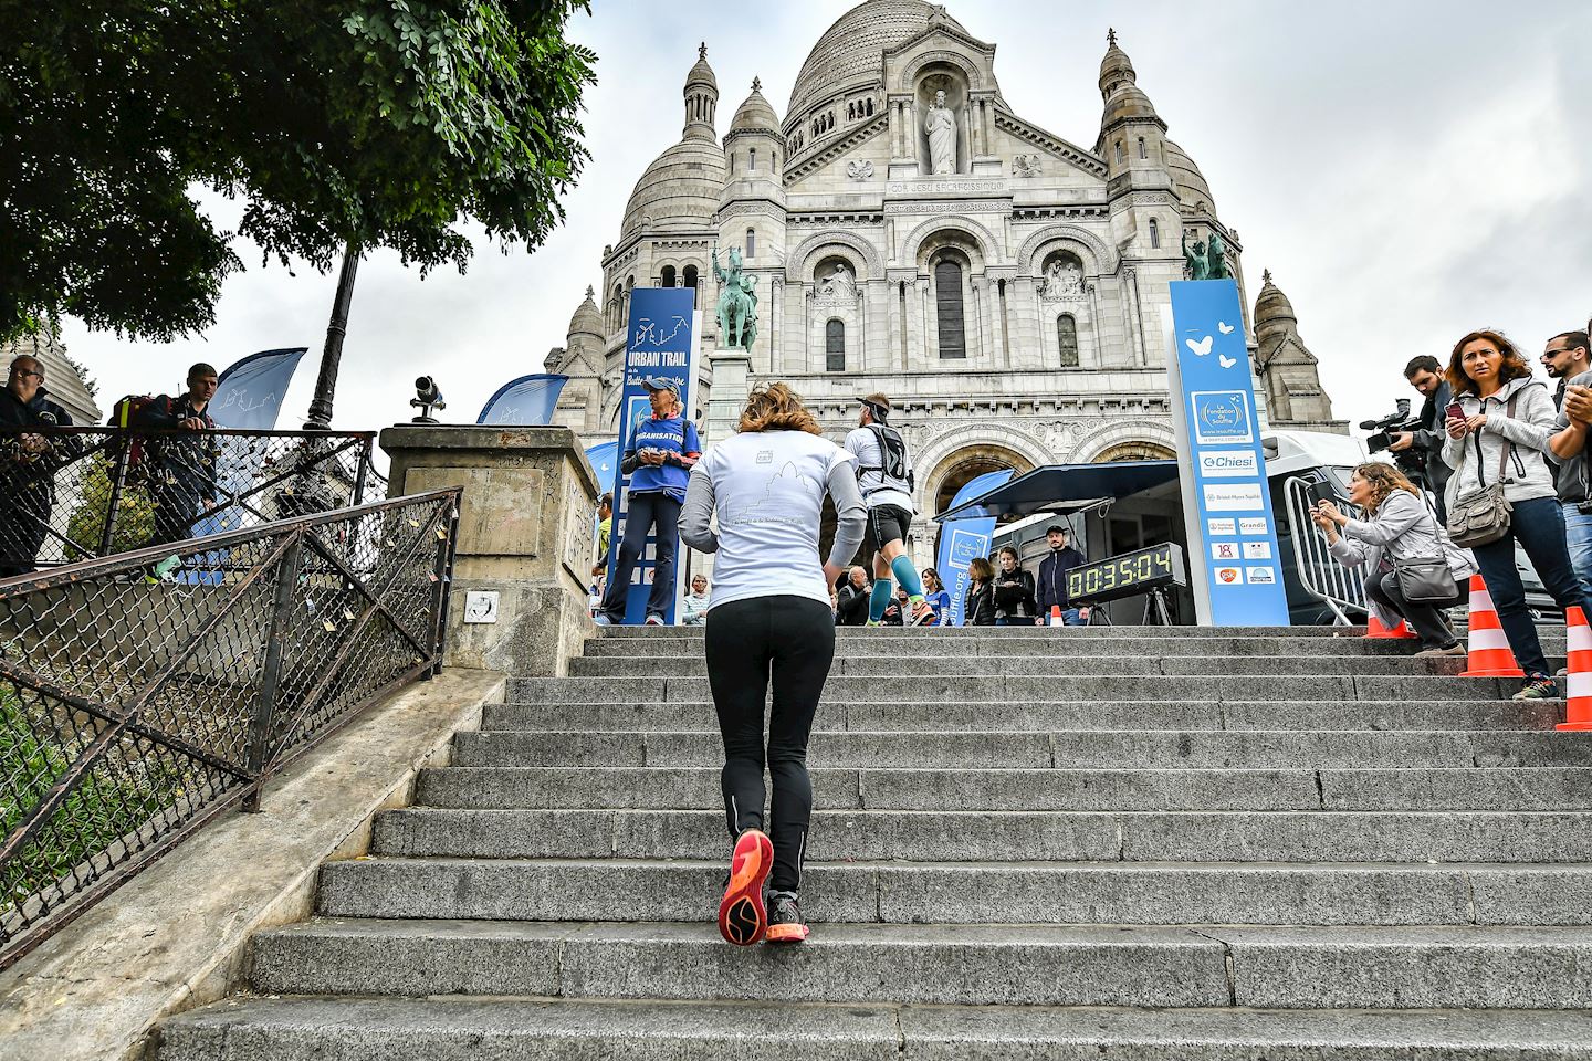
M562 676L594 627L597 474L568 428L396 425L390 496L463 487L447 609L449 667ZM497 622L463 622L470 590L498 593Z

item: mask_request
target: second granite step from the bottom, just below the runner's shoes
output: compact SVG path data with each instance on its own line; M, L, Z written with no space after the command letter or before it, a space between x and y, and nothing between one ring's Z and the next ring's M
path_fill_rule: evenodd
M261 994L933 1005L1586 1009L1589 927L712 924L325 919L255 937Z

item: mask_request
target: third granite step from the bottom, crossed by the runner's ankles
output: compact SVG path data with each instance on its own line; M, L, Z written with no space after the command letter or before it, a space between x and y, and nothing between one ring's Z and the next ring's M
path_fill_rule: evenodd
M724 861L328 862L328 918L712 921ZM817 924L1592 924L1592 865L809 862Z

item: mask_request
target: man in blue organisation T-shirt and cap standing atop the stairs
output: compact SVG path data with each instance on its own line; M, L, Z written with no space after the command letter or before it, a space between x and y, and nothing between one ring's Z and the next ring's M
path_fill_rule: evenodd
M602 609L594 616L599 627L624 622L624 598L630 590L630 576L653 528L657 536L657 557L653 565L653 589L646 597L646 625L664 625L669 601L675 595L680 506L686 499L691 469L702 457L702 442L697 439L696 425L681 414L675 382L648 377L642 383L653 402L653 415L630 431L624 458L619 461L619 469L630 476L630 488L619 558L608 581Z

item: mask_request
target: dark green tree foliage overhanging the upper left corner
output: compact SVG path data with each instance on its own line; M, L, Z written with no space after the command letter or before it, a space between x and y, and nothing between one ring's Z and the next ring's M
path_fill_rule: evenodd
M589 157L587 0L0 3L0 337L72 313L170 339L215 318L247 237L465 267L465 218L540 245ZM193 192L244 204L218 232Z

